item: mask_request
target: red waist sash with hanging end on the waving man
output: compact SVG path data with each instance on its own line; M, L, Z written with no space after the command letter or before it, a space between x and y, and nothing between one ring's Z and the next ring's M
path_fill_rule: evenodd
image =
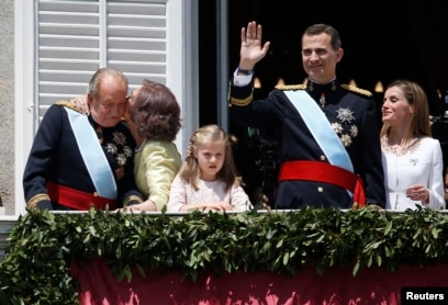
M281 165L279 182L306 180L331 183L354 193L354 207L366 206L362 179L340 167L320 161L287 161Z

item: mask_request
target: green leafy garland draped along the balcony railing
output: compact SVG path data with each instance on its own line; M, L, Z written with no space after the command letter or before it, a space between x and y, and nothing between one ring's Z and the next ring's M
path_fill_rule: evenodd
M27 211L8 234L0 260L0 301L76 304L68 262L107 259L117 280L145 270L175 270L197 281L200 272L323 273L354 264L352 274L402 263L448 263L448 214L428 208L393 213L306 207L269 213L79 214ZM135 268L136 267L136 268Z

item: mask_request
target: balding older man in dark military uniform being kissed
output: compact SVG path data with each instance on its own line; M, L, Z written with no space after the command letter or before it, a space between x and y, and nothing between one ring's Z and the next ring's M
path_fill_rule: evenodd
M143 202L133 176L135 142L122 120L126 95L126 77L101 68L89 83L89 115L70 102L48 109L24 170L27 208L115 210Z

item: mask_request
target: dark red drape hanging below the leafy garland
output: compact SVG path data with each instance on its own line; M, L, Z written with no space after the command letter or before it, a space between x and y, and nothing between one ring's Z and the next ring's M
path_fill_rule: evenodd
M269 272L221 276L203 274L195 282L179 272L133 272L131 282L117 282L107 263L93 260L71 266L79 280L80 304L89 305L243 305L243 304L401 304L403 286L448 286L448 266L401 266L395 273L380 268L362 270L355 278L351 268L333 268L318 275L307 269L294 276Z

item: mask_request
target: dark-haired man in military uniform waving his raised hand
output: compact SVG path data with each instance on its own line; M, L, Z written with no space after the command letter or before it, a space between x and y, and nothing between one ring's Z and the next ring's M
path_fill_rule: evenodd
M253 101L253 70L268 49L261 25L242 29L238 69L231 81L231 120L272 128L280 173L273 208L385 206L380 122L369 91L340 84L344 55L338 32L311 25L302 35L306 84L276 88Z

